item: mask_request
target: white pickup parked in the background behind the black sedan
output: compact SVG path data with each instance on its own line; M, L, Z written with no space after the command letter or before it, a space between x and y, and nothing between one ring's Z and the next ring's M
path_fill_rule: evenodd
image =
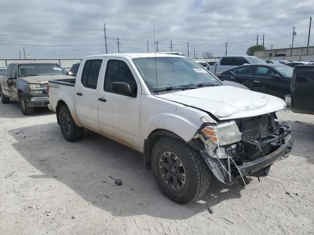
M217 64L215 66L210 66L209 70L213 73L223 72L244 64L266 64L266 62L255 56L228 55L220 57Z

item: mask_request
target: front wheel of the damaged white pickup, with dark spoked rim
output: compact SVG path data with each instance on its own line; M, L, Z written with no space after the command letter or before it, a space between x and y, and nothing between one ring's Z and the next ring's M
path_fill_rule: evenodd
M153 147L151 163L158 187L176 203L196 201L209 188L208 165L200 153L182 141L159 139Z

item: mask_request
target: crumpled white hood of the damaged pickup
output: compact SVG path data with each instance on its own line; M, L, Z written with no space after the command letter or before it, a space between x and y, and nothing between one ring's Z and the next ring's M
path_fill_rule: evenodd
M220 120L253 117L286 107L284 100L231 86L204 87L157 97L205 110Z

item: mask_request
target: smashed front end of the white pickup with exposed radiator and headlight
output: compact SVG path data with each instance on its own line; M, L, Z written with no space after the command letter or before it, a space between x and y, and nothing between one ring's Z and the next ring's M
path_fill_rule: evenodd
M206 116L201 122L190 144L225 184L245 175L267 176L271 164L288 157L293 145L290 125L280 124L275 113L223 122Z

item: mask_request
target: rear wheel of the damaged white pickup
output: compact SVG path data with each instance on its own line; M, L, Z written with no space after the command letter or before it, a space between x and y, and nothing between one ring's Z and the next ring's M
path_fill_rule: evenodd
M59 111L59 124L62 135L67 141L78 141L83 136L83 128L78 127L66 105L63 105Z

